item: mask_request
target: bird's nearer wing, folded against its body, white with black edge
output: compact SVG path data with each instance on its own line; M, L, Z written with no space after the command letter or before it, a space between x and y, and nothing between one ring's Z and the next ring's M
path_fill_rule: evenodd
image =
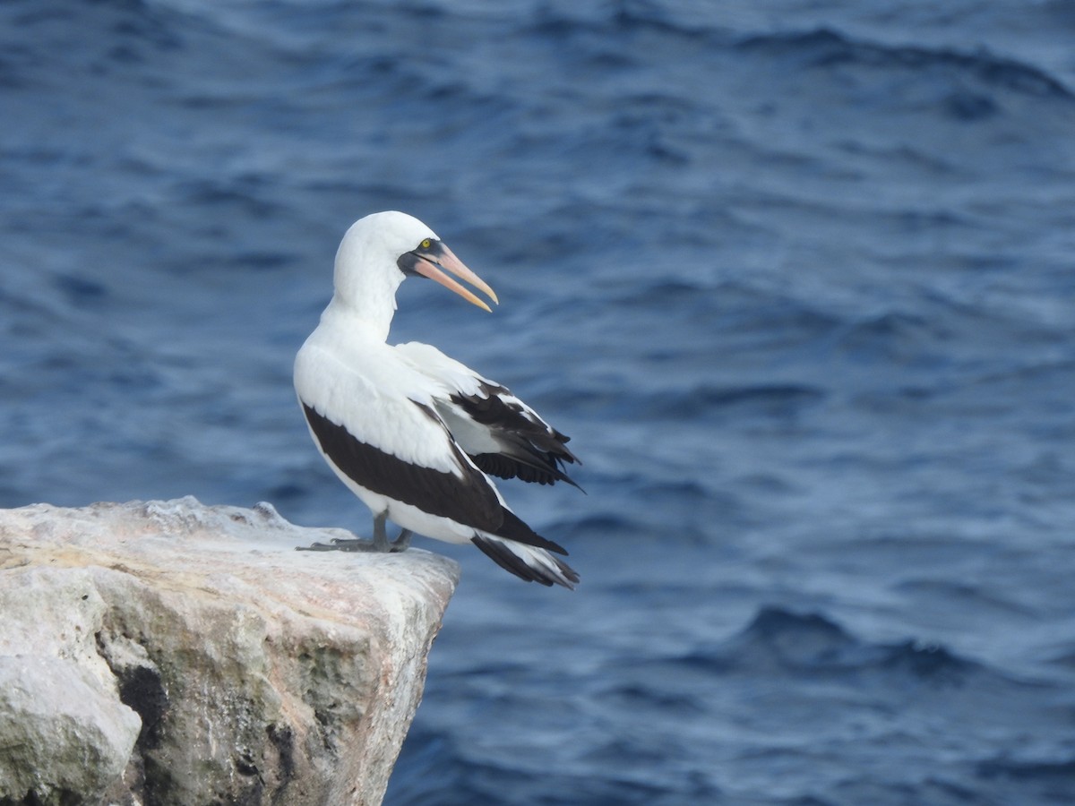
M563 552L504 506L435 411L429 379L390 352L344 361L307 344L296 358L295 386L321 451L359 487L483 532Z

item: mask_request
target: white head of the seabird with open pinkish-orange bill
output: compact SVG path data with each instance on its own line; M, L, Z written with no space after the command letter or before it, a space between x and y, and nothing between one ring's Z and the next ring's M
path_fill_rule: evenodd
M360 218L347 230L336 251L338 294L347 296L349 289L359 284L368 287L371 280L383 275L382 279L390 286L395 296L396 288L405 277L421 275L455 291L468 302L490 311L482 299L448 273L499 303L497 294L485 280L468 269L435 232L406 213L389 211Z

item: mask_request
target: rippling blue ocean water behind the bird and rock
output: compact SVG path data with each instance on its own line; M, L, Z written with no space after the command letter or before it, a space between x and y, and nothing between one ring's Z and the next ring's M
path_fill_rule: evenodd
M290 365L346 227L573 436L577 591L463 580L386 803L1075 802L1075 10L0 5L0 506L368 514ZM345 561L346 558L341 558Z

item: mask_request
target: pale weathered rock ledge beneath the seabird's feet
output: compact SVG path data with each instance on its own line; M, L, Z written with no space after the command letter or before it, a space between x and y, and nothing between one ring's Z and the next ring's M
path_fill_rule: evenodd
M168 502L0 510L0 804L377 804L458 581Z

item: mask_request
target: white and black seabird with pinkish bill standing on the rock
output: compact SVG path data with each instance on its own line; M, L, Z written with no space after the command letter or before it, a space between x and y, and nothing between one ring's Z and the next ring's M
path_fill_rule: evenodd
M528 581L573 588L568 552L504 503L489 475L568 481L569 437L503 386L428 344L386 344L396 290L421 275L489 306L450 272L498 302L436 234L404 213L359 219L335 256L334 293L295 359L295 388L325 461L373 513L373 539L314 550L401 551L411 533L473 543ZM577 485L576 485L577 486ZM385 522L401 528L389 542Z

